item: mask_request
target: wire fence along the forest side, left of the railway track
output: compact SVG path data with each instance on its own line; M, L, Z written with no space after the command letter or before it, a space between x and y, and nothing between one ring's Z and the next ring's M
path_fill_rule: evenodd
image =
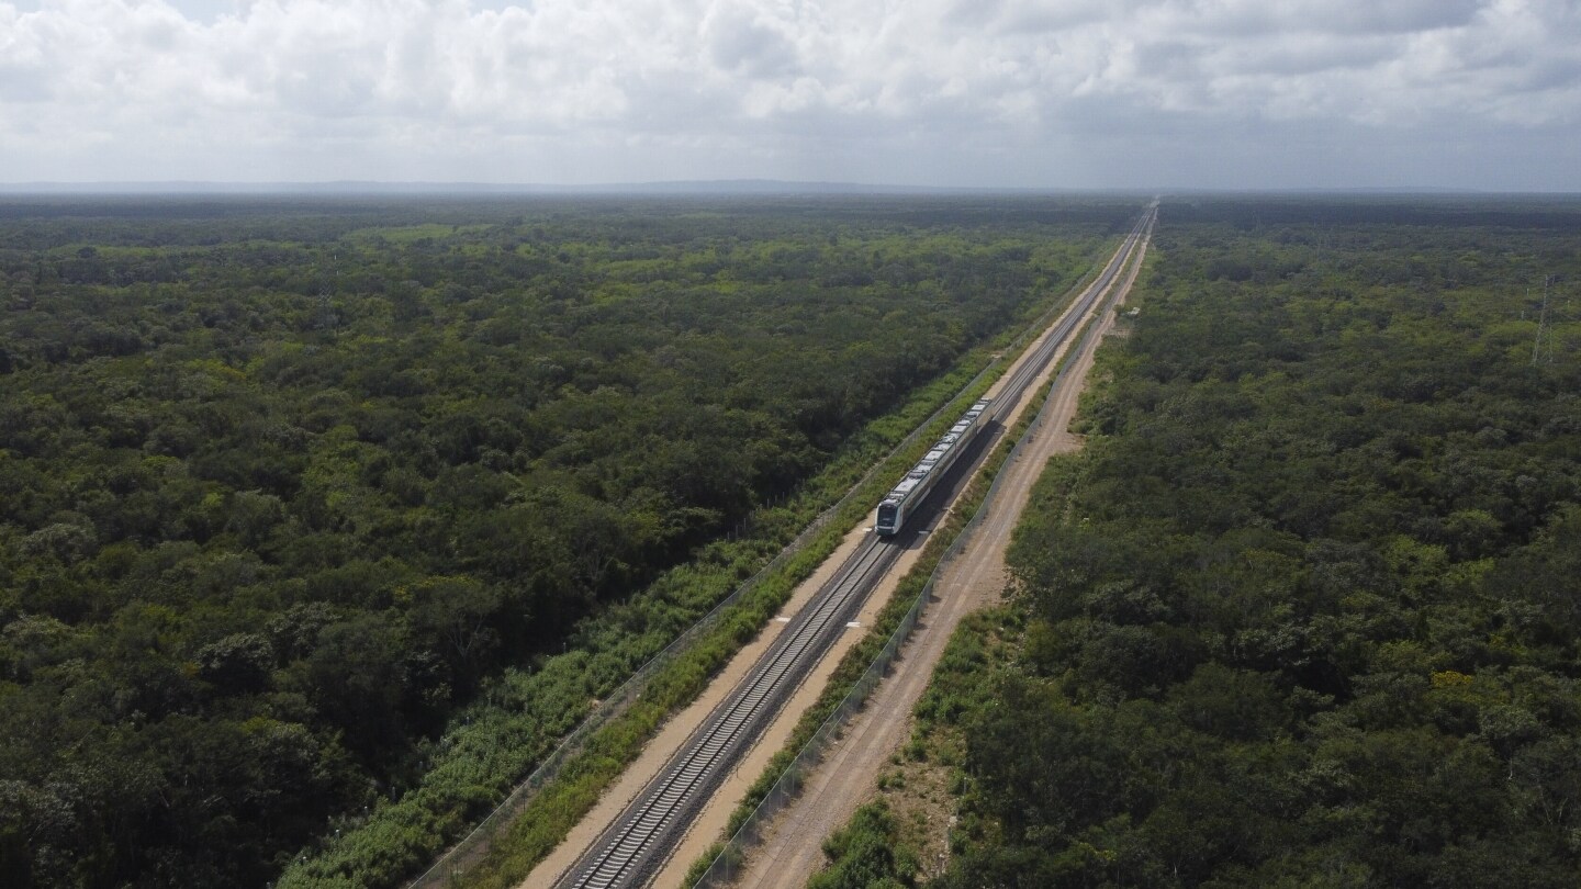
M1073 296L1080 293L1081 288L1086 285L1086 282L1088 275L1083 274L1077 280L1077 283L1070 288L1069 294ZM1024 346L1029 340L1042 334L1042 331L1048 326L1050 318L1056 316L1069 302L1070 302L1069 299L1056 301L1055 305L1051 305L1047 312L1039 315L1036 321L1026 326L1010 342L1010 345L1006 346L1002 354L1017 354L1017 351L1021 346ZM490 811L482 821L479 821L477 826L473 827L471 832L468 832L465 837L462 837L460 842L457 842L443 856L440 856L440 859L428 870L425 870L421 876L408 883L408 889L444 889L444 887L462 886L466 872L471 867L474 867L479 861L482 861L484 856L489 854L495 834L498 834L501 827L514 821L526 808L526 805L533 800L533 797L544 785L547 785L549 781L552 781L555 777L560 775L560 769L571 758L574 758L577 753L582 751L583 745L598 729L601 729L610 720L624 713L631 707L631 704L637 701L637 698L642 694L642 690L647 687L648 680L651 680L653 675L659 672L659 669L662 669L666 664L675 660L678 653L685 652L692 642L697 641L699 636L702 636L715 623L718 623L718 620L730 609L730 606L734 606L749 592L757 588L757 585L762 584L765 577L770 577L775 571L783 568L786 562L789 562L803 549L806 549L806 546L813 541L813 538L816 538L836 516L840 516L852 503L855 497L858 497L863 492L863 489L873 479L873 476L884 470L884 467L890 462L890 457L893 457L898 452L903 452L906 448L914 444L925 429L931 427L941 416L945 414L945 411L950 410L952 405L955 405L960 400L963 394L975 389L983 381L983 378L988 373L994 372L1001 364L1004 364L1002 356L988 362L980 372L977 372L975 376L972 376L969 383L961 386L957 395L950 397L944 405L939 407L939 410L933 411L933 414L928 416L926 421L920 422L917 429L914 429L911 433L906 435L906 438L903 438L898 444L895 444L895 448L892 448L884 459L876 460L873 467L868 468L868 471L862 476L862 479L857 484L854 484L851 490L846 492L844 497L841 497L833 506L819 513L817 517L813 519L813 522L808 524L808 527L803 528L802 533L795 536L795 539L786 544L786 547L781 549L778 555L775 555L756 574L741 582L729 596L719 600L719 603L715 604L713 609L708 611L708 614L705 614L696 623L683 630L658 655L655 655L645 664L637 668L637 671L632 672L631 677L626 679L626 682L623 682L618 688L610 691L602 699L602 702L591 713L588 713L588 717L575 729L572 729L571 734L568 734L564 740L561 740L560 745L555 747L555 750L549 756L545 756L544 761L539 762L538 767L533 769L533 772L526 778L522 780L522 783L512 788L511 794L506 796L506 799L498 807L495 807L493 811ZM983 506L987 508L987 500L983 501ZM982 514L982 511L979 511L979 514ZM975 522L975 519L972 522ZM953 552L955 547L952 547L950 554ZM947 554L945 558L949 558L950 554ZM930 581L928 587L922 592L919 603L925 601L931 588L933 588L933 581ZM906 630L906 634L909 634L911 628L915 626L919 614L920 609L917 606L912 606L912 611L907 612L906 619L903 620L903 628ZM906 639L906 636L896 636L896 637L901 641ZM895 645L898 650L898 645L895 644L896 637L890 639L890 645ZM893 660L890 647L885 647L884 652L887 653L889 660ZM873 671L870 669L868 672L871 674ZM863 679L858 680L858 687L862 687L862 683L866 682L868 675L863 675ZM873 679L871 685L866 685L865 688L871 691L874 685L877 685L877 679ZM862 698L865 699L866 693L863 693ZM792 769L795 769L794 764Z

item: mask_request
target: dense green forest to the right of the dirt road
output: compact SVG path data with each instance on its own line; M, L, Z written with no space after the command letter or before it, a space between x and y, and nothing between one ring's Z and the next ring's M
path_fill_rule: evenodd
M1167 199L855 886L1575 886L1581 206ZM1546 301L1546 308L1545 308Z

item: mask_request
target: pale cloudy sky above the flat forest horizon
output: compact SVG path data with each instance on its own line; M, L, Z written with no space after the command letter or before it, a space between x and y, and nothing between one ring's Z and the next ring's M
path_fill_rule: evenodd
M0 0L0 182L1581 191L1581 0Z

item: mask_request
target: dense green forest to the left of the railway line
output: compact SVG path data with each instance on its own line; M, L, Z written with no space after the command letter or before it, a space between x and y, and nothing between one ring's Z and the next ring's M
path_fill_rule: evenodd
M509 709L409 876L1134 210L0 202L0 884L264 886Z

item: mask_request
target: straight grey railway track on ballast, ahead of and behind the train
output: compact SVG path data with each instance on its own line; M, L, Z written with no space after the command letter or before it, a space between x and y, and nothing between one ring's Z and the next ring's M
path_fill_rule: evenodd
M1020 400L1092 304L1110 289L1130 263L1156 212L1154 207L1143 212L1104 272L1078 297L1075 310L1067 312L1031 359L1023 361L1006 380L994 399L994 416L1004 405ZM903 535L885 539L870 533L835 577L786 626L748 677L708 713L658 777L637 794L636 802L555 883L557 889L613 889L642 886L651 880L691 815L822 658L833 644L836 630L858 609L873 582L900 557L909 538L911 535Z

